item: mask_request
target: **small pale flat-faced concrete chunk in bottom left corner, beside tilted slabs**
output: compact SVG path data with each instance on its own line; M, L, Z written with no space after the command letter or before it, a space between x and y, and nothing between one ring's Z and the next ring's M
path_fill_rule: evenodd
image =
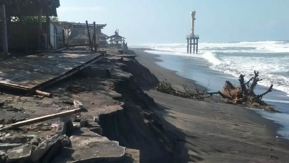
M15 147L7 151L7 159L10 162L17 160L28 160L31 156L32 145L26 144L24 146Z

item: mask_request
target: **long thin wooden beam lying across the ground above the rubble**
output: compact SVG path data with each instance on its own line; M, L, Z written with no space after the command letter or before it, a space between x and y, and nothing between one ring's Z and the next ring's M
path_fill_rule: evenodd
M5 125L3 128L1 128L0 131L10 129L10 128L22 127L22 126L30 125L33 123L43 122L43 121L54 119L54 118L65 117L65 116L69 116L72 114L77 114L80 112L80 110L81 110L80 108L77 108L77 109L67 111L67 112L56 113L56 114L52 114L52 115L47 115L47 116L43 116L43 117L37 117L37 118L33 118L33 119L28 119L25 121L16 122L13 124L8 124L8 125Z

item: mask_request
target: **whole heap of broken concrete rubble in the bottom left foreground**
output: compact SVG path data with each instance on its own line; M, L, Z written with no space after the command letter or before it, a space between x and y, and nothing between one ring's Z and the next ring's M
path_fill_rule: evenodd
M90 122L73 116L73 121L71 117L61 117L54 124L38 123L30 127L39 132L54 132L47 138L36 134L11 135L9 130L3 130L7 125L2 126L0 162L122 162L125 147L101 136L98 117Z

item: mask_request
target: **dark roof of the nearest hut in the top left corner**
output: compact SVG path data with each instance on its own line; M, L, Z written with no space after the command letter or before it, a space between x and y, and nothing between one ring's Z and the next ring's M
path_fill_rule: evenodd
M42 16L46 16L47 14L48 16L57 16L56 8L60 7L60 0L9 0L5 1L5 5L6 14L9 16L38 16L40 8L43 9Z

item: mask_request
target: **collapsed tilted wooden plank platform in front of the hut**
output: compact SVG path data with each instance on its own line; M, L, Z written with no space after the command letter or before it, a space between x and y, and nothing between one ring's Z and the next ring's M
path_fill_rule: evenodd
M0 87L25 93L54 84L98 61L100 53L39 53L0 62Z

